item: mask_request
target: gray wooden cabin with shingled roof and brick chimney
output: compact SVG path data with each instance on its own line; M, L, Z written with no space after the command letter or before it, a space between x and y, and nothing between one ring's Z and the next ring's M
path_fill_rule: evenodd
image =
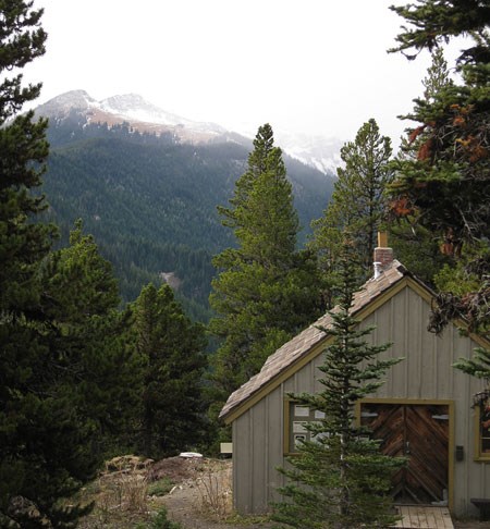
M441 335L429 332L433 293L382 242L375 261L352 312L362 328L376 327L367 341L392 343L383 355L404 360L376 394L357 403L356 420L370 426L384 453L408 457L393 481L395 503L446 505L455 516L476 517L471 500L490 503L490 394L482 380L452 365L490 343L462 334L464 322ZM232 425L233 501L241 514L267 513L280 500L284 477L277 468L309 435L305 421L318 418L287 395L320 390L318 367L332 339L318 327L328 331L331 323L326 315L285 343L221 410Z

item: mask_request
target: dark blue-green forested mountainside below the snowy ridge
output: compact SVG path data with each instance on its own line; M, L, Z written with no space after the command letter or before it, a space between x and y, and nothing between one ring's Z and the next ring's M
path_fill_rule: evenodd
M49 218L62 242L77 218L114 266L125 302L142 286L173 273L187 310L207 318L211 257L234 241L217 206L228 204L249 149L235 142L180 144L171 135L139 134L127 125L53 123L44 177ZM243 139L243 138L242 138ZM332 179L286 159L306 241L321 216Z

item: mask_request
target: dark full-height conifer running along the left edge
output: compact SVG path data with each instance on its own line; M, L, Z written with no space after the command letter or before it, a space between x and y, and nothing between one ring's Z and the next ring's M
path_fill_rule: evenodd
M68 332L76 299L53 288L56 230L37 218L47 122L20 113L40 85L14 73L45 51L42 11L32 5L0 2L0 526L68 528L90 506L62 500L94 476L98 453L77 393L84 353Z

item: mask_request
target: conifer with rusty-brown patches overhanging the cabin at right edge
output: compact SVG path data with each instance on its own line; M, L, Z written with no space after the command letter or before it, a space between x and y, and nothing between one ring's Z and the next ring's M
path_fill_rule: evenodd
M439 87L424 104L416 101L411 119L419 125L409 131L416 158L397 162L391 195L395 214L415 217L446 255L463 258L467 272L479 276L476 291L463 297L452 293L438 297L433 329L439 331L450 319L466 313L475 316L474 329L483 330L490 299L490 8L474 0L425 0L393 9L411 26L397 36L400 45L391 51L412 49L415 53L409 58L414 58L458 35L470 37L473 45L456 64L463 84ZM477 262L465 258L471 247L481 250Z

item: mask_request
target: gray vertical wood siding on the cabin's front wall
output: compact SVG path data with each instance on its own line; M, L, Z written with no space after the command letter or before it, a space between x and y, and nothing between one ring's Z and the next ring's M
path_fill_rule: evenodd
M483 382L455 370L452 364L468 357L477 344L450 325L441 336L427 331L430 306L405 287L368 316L362 327L376 325L367 340L393 346L385 353L405 357L388 373L387 383L373 397L403 399L449 399L454 402L454 439L464 447L464 460L453 466L453 510L476 515L470 497L490 497L490 465L475 462L475 419L471 395ZM284 466L284 399L289 392L319 390L318 366L322 355L296 371L265 398L233 422L234 504L240 513L264 513L278 500L277 487ZM238 481L240 480L240 481Z

